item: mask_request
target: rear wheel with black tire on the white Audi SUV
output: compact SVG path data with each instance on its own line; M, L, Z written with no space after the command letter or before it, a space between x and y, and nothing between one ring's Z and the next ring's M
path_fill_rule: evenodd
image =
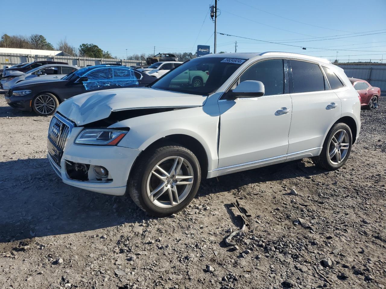
M344 131L344 137L342 140L339 136ZM333 139L335 138L335 140ZM336 144L334 146L334 143ZM345 145L342 145L345 144ZM345 123L336 123L332 126L328 132L326 139L323 143L322 152L320 155L313 158L315 165L324 168L326 170L337 170L345 164L350 156L352 146L352 132L350 127ZM335 147L335 150L333 148ZM337 149L340 147L339 149ZM345 147L345 148L344 148ZM335 151L335 154L334 154ZM332 157L330 158L330 153ZM339 161L339 155L341 160Z

